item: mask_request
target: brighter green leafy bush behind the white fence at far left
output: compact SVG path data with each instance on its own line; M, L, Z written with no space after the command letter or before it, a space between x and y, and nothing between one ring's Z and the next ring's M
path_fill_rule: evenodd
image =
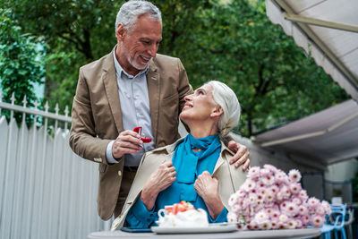
M0 9L0 81L4 101L22 105L26 96L28 106L37 100L34 83L43 83L45 74L38 40L21 34L21 28L11 17L11 11ZM18 121L21 115L16 115Z

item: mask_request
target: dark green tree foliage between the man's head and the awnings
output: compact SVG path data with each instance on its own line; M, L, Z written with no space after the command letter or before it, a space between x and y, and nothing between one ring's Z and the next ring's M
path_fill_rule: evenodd
M182 59L194 88L218 80L234 89L243 108L244 136L348 98L268 20L263 1L255 6L248 1L166 1L160 8L171 9L164 13L160 51Z

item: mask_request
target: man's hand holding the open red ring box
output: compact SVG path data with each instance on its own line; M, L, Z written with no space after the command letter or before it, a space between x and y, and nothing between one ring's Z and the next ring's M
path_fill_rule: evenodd
M138 153L142 144L141 136L137 132L121 132L112 146L113 158L121 158L124 154Z

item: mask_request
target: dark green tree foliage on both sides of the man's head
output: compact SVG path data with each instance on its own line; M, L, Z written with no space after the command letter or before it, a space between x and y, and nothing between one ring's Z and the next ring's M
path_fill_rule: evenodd
M124 1L4 3L12 7L23 30L47 42L47 98L61 108L71 106L79 67L115 46L115 15ZM348 98L281 27L268 20L263 0L153 3L163 15L159 53L181 58L194 88L209 80L233 88L243 108L244 136Z

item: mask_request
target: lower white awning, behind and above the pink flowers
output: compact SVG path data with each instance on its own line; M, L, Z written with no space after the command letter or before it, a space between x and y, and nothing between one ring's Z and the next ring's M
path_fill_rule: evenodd
M262 147L283 149L330 165L358 157L358 104L353 99L260 133Z

